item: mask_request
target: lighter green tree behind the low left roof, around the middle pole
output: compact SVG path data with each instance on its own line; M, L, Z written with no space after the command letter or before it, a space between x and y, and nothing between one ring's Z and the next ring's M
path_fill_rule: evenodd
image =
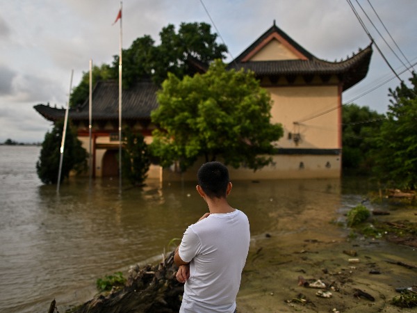
M110 65L102 64L100 67L93 65L92 67L92 86L95 86L97 81L106 79L115 79L117 74ZM76 86L71 93L70 107L76 108L79 104L83 104L88 99L90 90L90 72L83 72L83 77L78 86Z

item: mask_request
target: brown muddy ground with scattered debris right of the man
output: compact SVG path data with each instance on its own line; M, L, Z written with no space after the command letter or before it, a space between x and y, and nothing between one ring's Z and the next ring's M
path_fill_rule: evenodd
M417 220L414 212L408 213ZM326 287L306 287L317 280ZM254 239L236 302L238 313L417 312L417 307L391 304L400 295L395 289L413 285L417 285L416 247L386 238L348 239L342 230L329 226L317 233L264 234ZM331 297L317 296L320 290L329 291Z

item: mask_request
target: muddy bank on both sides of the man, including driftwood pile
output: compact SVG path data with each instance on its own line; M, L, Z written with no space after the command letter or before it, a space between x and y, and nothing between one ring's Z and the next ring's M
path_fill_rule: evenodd
M393 304L400 289L417 285L415 216L411 207L372 216L366 224L400 225L400 232L384 228L380 236L332 222L317 231L253 236L238 312L415 312L415 307ZM410 232L404 231L406 225ZM75 312L125 312L126 307L129 312L177 312L182 289L174 270L169 259L131 269L127 287L96 296Z

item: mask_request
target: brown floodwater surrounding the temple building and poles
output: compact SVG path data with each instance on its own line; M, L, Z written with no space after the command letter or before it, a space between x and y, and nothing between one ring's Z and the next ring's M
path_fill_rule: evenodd
M95 294L95 280L161 258L206 205L195 183L126 188L116 179L70 179L44 186L40 147L0 146L0 312L47 312ZM250 219L252 241L272 234L337 236L343 218L368 192L339 179L233 181L232 206ZM362 188L357 191L357 187ZM331 231L330 231L331 229Z

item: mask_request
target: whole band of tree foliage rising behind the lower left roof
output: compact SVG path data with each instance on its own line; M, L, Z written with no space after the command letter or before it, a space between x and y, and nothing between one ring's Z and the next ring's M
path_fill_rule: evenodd
M211 33L210 24L181 23L178 32L175 26L168 24L159 33L161 43L155 45L150 35L144 35L134 40L128 49L122 51L122 87L129 89L138 80L149 78L157 85L172 72L177 77L193 75L195 70L190 67L187 59L208 66L216 58L224 58L227 47L218 44L217 34ZM88 98L89 72L83 72L83 77L72 93L70 106L83 104ZM99 80L119 79L119 56L113 56L111 65L93 66L92 84Z

